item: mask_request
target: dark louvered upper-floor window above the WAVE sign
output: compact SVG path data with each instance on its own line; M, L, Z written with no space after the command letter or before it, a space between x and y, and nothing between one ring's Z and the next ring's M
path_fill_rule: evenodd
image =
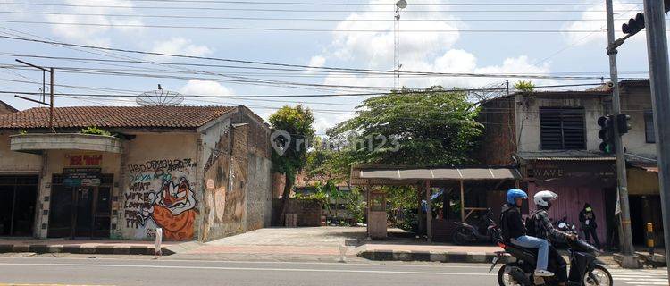
M586 148L584 109L540 107L542 150L583 150Z

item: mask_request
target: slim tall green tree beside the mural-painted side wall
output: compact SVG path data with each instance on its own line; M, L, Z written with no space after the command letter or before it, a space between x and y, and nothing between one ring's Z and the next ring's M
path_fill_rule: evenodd
M314 114L302 105L283 106L270 115L273 136L272 168L284 174L286 184L282 192L282 203L278 219L283 218L296 174L306 163L308 142L314 138ZM279 223L279 222L275 222Z

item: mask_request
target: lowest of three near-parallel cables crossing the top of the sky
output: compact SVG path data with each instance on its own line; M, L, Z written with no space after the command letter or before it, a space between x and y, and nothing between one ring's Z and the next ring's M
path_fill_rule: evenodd
M0 20L4 23L21 24L45 24L45 25L67 25L67 26L92 26L92 27L122 27L122 28L158 28L158 29L223 29L223 30L247 30L247 31L286 31L286 32L344 32L344 33L383 33L390 32L389 29L292 29L292 28L255 28L255 27L224 27L224 26L191 26L191 25L155 25L155 24L121 24L121 23L85 23L85 22L60 22L60 21L21 21ZM605 32L602 29L401 29L401 33L594 33Z

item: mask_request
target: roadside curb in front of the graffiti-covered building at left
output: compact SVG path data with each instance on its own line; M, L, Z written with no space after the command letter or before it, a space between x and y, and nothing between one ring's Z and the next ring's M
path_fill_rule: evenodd
M71 254L112 254L112 255L145 255L153 256L153 246L113 246L101 245L95 247L84 247L76 244L66 245L45 245L45 244L2 244L0 245L0 253L16 253L16 252L35 252L42 253L71 253ZM172 249L161 248L163 256L175 254Z

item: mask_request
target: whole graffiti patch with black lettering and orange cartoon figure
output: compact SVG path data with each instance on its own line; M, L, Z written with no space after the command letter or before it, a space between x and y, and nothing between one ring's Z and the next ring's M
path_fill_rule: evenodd
M191 159L130 164L130 186L124 194L126 228L136 238L151 238L163 228L166 240L193 239L197 199L191 183Z

